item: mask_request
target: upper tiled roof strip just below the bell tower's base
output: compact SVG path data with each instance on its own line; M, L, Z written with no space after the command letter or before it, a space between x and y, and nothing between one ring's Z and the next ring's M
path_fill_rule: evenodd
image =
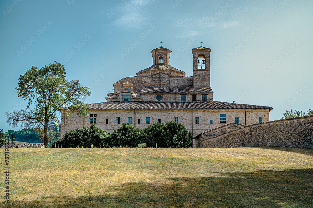
M143 86L141 93L213 93L210 87Z

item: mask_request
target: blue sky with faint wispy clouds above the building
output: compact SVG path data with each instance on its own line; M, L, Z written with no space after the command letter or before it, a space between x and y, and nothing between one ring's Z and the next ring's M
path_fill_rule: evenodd
M27 103L18 79L31 66L61 62L68 80L105 102L113 84L172 51L170 65L192 76L192 48L211 49L213 100L313 109L311 0L1 0L0 128ZM18 130L18 129L15 129Z

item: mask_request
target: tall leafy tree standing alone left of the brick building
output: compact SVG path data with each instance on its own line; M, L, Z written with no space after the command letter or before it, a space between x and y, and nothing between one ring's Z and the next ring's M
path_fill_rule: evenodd
M41 69L32 66L20 75L16 88L18 97L28 101L28 105L24 109L6 113L10 127L16 128L21 123L22 128L33 127L41 132L45 148L48 148L49 142L48 127L61 121L60 109L65 109L66 117L74 110L79 116L88 115L84 100L90 95L89 88L81 86L78 80L66 80L65 74L64 65L56 61ZM31 109L33 101L35 108Z

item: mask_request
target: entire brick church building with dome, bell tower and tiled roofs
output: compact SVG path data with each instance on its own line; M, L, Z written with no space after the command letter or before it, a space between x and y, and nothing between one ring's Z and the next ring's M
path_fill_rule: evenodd
M271 107L213 101L210 87L211 49L192 49L193 77L169 65L170 51L151 51L153 65L113 84L107 102L88 104L89 117L72 113L64 119L61 110L61 137L65 132L90 126L112 132L122 123L146 128L154 122L182 123L194 135L229 123L251 125L269 121Z

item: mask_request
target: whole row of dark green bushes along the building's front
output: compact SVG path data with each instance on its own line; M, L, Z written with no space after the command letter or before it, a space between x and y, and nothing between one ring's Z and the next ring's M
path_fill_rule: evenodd
M97 148L137 147L146 143L148 147L188 148L193 135L181 123L152 123L147 128L135 129L131 124L123 123L120 128L107 133L95 125L78 128L65 133L64 137L51 143L51 148Z

